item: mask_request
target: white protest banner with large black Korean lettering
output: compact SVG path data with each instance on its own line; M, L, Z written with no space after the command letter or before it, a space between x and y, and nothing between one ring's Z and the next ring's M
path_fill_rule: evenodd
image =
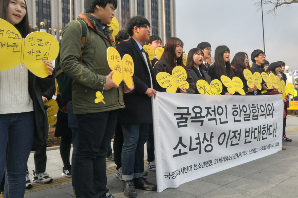
M157 92L152 101L158 192L281 150L281 95Z

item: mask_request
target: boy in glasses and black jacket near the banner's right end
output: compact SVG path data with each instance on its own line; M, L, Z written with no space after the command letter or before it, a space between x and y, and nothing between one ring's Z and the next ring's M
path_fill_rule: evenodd
M262 74L262 72L264 71L262 69L262 65L264 65L264 63L265 63L265 60L266 60L265 57L266 57L266 55L260 49L254 50L251 53L251 60L253 61L253 65L250 69L251 69L252 73L259 72L260 74ZM255 93L255 95L262 95L261 92L263 90L268 90L268 89L271 89L271 87L268 88L266 86L265 81L262 79L262 89L261 90L257 89L256 91L254 91L254 93ZM264 94L268 94L268 93L266 92Z

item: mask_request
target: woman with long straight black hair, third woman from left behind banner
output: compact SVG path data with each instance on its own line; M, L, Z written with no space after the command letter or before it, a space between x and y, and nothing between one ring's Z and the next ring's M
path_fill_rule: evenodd
M221 81L220 77L222 75L233 78L235 76L233 69L230 64L230 49L221 45L215 49L214 55L214 64L209 68L208 75L211 77L211 80L218 79ZM227 92L227 88L222 86L222 95L233 95L232 93Z

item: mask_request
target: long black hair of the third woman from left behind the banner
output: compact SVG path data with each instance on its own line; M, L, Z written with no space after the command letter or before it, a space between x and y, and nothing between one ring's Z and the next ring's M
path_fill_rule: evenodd
M223 54L230 49L225 45L220 45L215 49L214 55L214 65L216 65L215 77L220 79L222 75L228 76L229 78L233 78L235 75L231 68L230 60L225 62L223 59Z

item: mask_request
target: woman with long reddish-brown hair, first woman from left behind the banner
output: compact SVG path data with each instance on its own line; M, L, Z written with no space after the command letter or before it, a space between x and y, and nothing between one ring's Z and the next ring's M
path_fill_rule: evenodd
M162 57L157 63L155 63L155 66L153 68L153 73L155 74L155 76L162 71L172 74L172 70L174 69L174 67L180 65L186 70L186 74L187 74L186 81L189 83L189 88L185 89L185 88L179 87L179 90L177 90L176 93L179 93L179 92L194 93L194 90L195 90L194 80L189 75L187 68L183 64L183 57L182 57L183 42L176 37L171 37L167 40L164 49L165 51L163 52ZM159 85L157 90L166 92L166 89L162 88Z

